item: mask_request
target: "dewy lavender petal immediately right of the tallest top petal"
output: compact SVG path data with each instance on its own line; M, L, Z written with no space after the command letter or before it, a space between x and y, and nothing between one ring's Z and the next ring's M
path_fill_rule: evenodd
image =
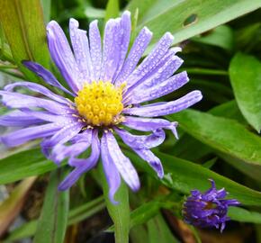
M136 68L139 59L144 53L145 49L148 47L148 43L151 40L152 32L148 30L147 27L144 27L141 31L139 31L139 35L134 41L130 53L126 58L123 67L121 68L121 72L116 78L115 85L121 85L122 82L126 80L126 78L133 72Z

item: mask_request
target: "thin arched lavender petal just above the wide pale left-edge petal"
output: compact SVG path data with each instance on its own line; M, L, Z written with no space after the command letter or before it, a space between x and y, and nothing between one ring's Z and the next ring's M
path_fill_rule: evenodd
M63 103L63 104L68 104L70 103L67 99L65 99L64 97L58 95L58 94L54 94L51 91L49 91L48 88L42 86L42 85L38 85L38 84L34 84L31 82L16 82L14 84L11 85L6 85L4 87L5 91L9 91L12 92L14 91L14 88L17 86L22 86L22 87L26 87L28 89L30 89L31 91L34 92L38 92L40 94L44 94L45 96L49 97L50 99L57 101L58 103Z

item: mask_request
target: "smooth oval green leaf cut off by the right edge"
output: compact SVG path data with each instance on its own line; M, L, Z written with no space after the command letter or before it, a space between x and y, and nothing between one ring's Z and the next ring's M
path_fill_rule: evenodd
M261 62L238 53L229 66L229 77L238 107L246 120L261 132Z

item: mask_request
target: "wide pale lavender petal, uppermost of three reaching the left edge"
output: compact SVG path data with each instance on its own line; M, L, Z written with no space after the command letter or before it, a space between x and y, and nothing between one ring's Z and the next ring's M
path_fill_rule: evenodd
M26 94L0 90L0 95L2 95L2 103L4 103L4 105L9 108L22 109L29 107L39 107L57 114L69 114L74 112L67 105L64 105L62 103L57 103L54 101L41 99Z

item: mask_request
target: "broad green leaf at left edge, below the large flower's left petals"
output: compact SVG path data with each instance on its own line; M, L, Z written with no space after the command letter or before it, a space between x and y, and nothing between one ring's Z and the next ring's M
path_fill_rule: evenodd
M41 175L54 169L57 169L57 165L47 160L40 148L32 148L0 159L0 184Z

